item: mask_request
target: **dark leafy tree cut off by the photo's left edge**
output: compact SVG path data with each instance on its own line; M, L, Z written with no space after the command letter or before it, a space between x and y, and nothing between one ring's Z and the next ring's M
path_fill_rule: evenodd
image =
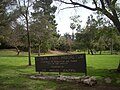
M12 45L12 43L16 41L16 40L11 40L12 42L9 41L13 36L15 36L15 33L14 35L12 33L12 31L14 31L12 24L19 17L18 10L13 9L13 4L15 2L16 2L15 0L1 0L0 1L0 42L5 43L5 44L9 43L9 45L10 44Z

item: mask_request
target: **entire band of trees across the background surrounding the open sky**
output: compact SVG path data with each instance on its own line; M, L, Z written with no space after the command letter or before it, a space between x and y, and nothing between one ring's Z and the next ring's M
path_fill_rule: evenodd
M115 28L115 26L119 28L115 20L119 20L120 16L117 0L110 0L109 4L105 0L93 0L95 8L73 0L57 1L97 11L97 17L90 15L85 28L82 29L80 16L71 16L72 36L65 34L60 37L56 30L57 24L54 20L56 7L52 6L52 0L1 0L0 16L3 18L0 17L0 42L17 48L21 45L22 47L28 46L29 65L31 65L31 46L32 49L38 49L38 55L41 51L46 52L49 49L71 51L73 46L74 49L87 49L91 54L94 54L93 50L100 51L100 54L103 50L111 50L111 54L114 50L119 50L119 36ZM103 15L111 19L114 25ZM14 42L12 42L12 38L15 39Z

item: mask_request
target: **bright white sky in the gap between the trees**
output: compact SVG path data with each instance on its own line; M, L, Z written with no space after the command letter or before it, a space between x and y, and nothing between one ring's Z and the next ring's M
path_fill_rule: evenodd
M69 8L69 9L63 9L65 7L70 7L69 5L62 4L59 6L58 10L55 13L55 20L57 22L57 30L59 30L59 33L61 35L64 35L65 33L72 34L72 30L70 29L70 23L72 20L70 20L70 16L74 15L80 15L80 20L82 20L81 26L84 27L87 21L87 17L92 14L93 12L90 10L87 10L85 8Z

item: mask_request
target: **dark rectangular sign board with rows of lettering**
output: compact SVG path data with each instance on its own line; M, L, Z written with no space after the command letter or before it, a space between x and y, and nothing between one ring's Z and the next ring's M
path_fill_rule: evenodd
M36 72L86 73L85 54L35 57Z

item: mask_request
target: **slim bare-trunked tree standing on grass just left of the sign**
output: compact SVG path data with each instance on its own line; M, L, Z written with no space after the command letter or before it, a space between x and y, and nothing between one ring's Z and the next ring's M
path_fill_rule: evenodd
M30 29L29 29L29 22L30 22L30 13L31 13L31 6L33 2L31 0L15 0L14 8L17 9L19 15L21 15L22 20L20 22L26 28L27 31L27 42L28 42L28 65L31 66L31 41L30 41ZM24 18L24 19L23 19Z

